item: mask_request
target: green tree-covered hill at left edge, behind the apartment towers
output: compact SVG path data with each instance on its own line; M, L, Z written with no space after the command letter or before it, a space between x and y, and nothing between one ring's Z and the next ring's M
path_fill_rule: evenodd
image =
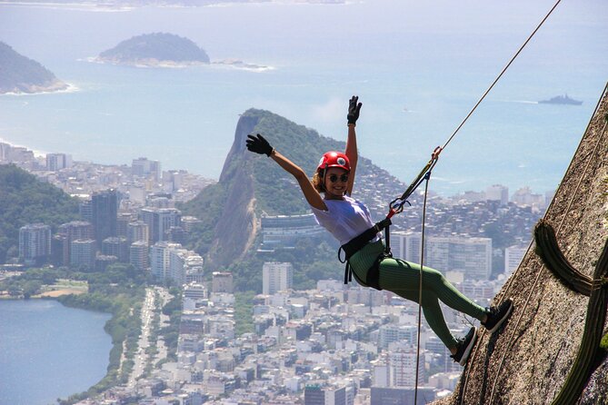
M19 254L19 228L43 222L57 226L79 218L78 201L14 164L0 165L0 263Z

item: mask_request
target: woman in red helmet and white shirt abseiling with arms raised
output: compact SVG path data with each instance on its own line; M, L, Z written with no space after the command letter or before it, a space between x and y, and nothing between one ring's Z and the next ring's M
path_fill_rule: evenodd
M353 96L346 116L348 121L346 150L344 153L324 153L312 181L302 168L278 153L261 134L248 135L246 146L251 152L266 154L287 173L294 176L304 193L304 198L313 210L316 221L343 247L367 232L364 242L354 243L356 248L347 252L348 262L357 282L378 290L393 291L407 300L418 302L420 265L400 259L385 258L384 242L381 233L375 232L378 228L374 230L374 222L369 210L364 203L351 196L357 167L354 128L361 106L358 97ZM352 246L353 243L350 245ZM450 350L454 361L464 365L476 340L475 328L471 328L463 338L456 339L445 324L439 301L481 321L485 329L490 332L496 331L509 317L513 311L513 301L507 299L499 306L484 309L456 290L441 272L424 267L422 274L424 318Z

